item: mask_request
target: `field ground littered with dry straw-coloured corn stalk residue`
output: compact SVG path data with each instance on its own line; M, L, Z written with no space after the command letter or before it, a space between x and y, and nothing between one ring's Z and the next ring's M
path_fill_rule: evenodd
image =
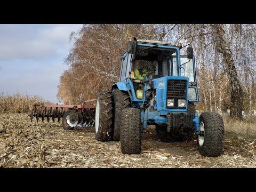
M255 143L227 133L225 153L207 158L196 138L163 143L151 126L142 134L141 154L124 155L120 142L96 141L94 127L65 131L58 122L30 122L27 114L0 115L0 167L256 167Z

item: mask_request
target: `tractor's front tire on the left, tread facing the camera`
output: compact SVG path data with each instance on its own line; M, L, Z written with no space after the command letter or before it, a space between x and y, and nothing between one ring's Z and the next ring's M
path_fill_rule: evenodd
M121 151L123 154L139 154L141 151L140 109L126 108L122 113Z

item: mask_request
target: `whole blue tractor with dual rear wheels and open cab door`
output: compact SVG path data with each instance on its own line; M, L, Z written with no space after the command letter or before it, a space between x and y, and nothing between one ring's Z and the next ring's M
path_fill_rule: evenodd
M139 154L141 133L155 125L163 142L189 141L196 134L201 155L223 153L222 117L211 112L198 116L193 48L180 55L182 48L181 43L129 39L119 82L97 95L96 140L121 141L123 154Z

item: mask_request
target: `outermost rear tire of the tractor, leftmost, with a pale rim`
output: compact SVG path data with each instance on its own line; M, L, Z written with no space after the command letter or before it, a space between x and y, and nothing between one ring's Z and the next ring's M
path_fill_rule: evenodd
M100 90L97 95L95 113L95 139L110 141L113 117L113 102L109 90Z

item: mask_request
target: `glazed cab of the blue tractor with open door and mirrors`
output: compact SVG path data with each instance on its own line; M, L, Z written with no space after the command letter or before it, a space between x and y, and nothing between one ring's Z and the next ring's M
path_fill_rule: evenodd
M140 80L150 79L150 81L161 78L160 80L165 81L167 79L165 77L172 77L173 79L188 77L188 97L186 98L191 102L199 101L193 49L188 47L187 55L180 55L181 48L181 44L177 46L167 42L134 41L134 39L130 39L128 49L122 57L120 82L127 82L129 78ZM164 82L160 82L159 84L162 85L162 83L164 84ZM130 85L130 83L129 85L127 83L125 84L126 86ZM117 83L117 86L119 85L120 83ZM145 99L145 95L142 95L143 91L141 92L143 90L142 85L139 81L133 81L135 97L132 97L132 90L129 92L132 101L138 102ZM145 90L148 90L147 88L145 87ZM138 90L140 94L137 94Z

